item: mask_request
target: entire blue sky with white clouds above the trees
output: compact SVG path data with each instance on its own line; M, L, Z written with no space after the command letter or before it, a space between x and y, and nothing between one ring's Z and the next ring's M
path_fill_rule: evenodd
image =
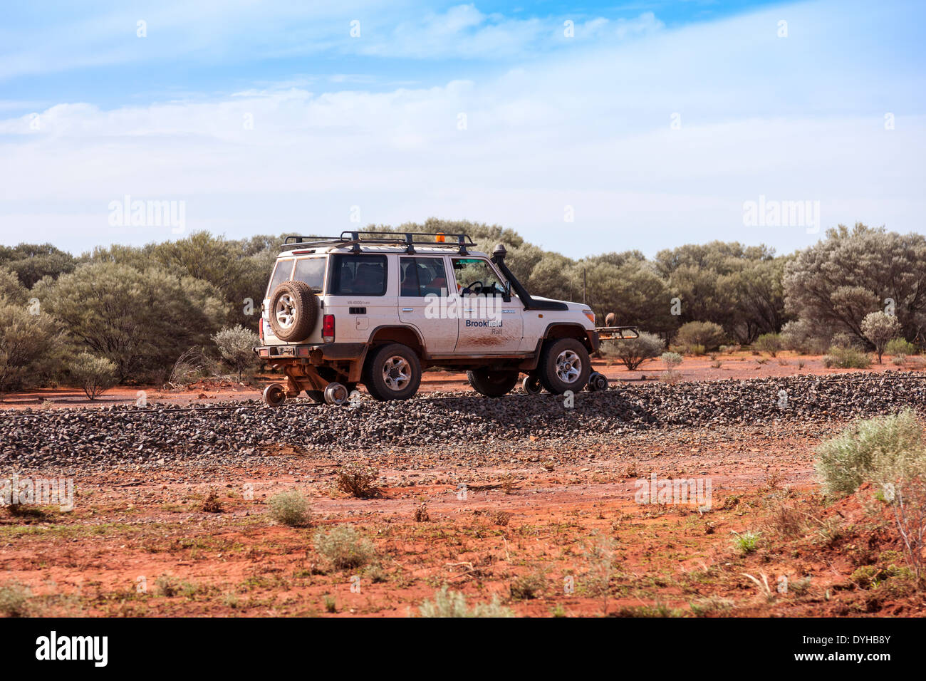
M790 252L839 222L926 229L915 2L5 11L4 244L176 237L113 225L125 195L183 202L186 232L438 216L573 257L711 239ZM760 196L816 203L820 223L745 223Z

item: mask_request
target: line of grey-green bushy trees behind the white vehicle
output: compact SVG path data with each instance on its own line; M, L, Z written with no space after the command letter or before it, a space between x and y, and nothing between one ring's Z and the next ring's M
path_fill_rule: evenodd
M487 253L505 244L509 268L533 295L584 298L599 324L613 312L615 323L668 342L685 327L682 335L706 330L710 342L774 336L823 352L834 342L874 347L865 327L872 312L893 318L895 334L917 345L926 327L926 238L917 233L857 223L790 255L713 241L655 258L633 250L570 259L499 225L430 219L368 229L468 233ZM219 338L238 346L253 337L285 236L197 232L80 256L50 244L0 246L0 391L67 381L69 368L80 373L78 358L106 362L123 383L169 380L191 347L234 364L241 347L217 346L216 336L237 330Z

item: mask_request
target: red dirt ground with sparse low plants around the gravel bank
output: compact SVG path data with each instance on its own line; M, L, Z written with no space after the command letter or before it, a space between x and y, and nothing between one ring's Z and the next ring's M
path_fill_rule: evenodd
M787 355L787 364L758 364L740 353L716 369L686 358L682 373L823 372L820 358L800 359L803 368ZM600 368L631 379L658 372L656 362ZM423 389L461 378L429 372ZM106 397L133 400L134 391ZM227 385L152 393L149 401L257 397ZM82 401L60 390L7 399ZM843 425L661 429L583 451L525 441L504 460L490 446L484 465L463 468L423 448L357 451L379 466L373 498L338 489L333 456L294 448L251 465L79 474L73 511L0 510L0 587L27 587L28 614L407 616L444 585L470 605L497 599L530 616L926 614L875 491L836 503L820 495L813 449ZM709 476L710 508L637 503L637 481L652 473ZM272 519L269 498L287 490L310 503L306 526ZM316 545L317 533L344 526L371 544L367 564L338 569Z

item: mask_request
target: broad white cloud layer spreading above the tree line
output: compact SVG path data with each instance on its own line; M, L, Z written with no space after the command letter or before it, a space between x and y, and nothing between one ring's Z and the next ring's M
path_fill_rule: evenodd
M447 30L489 25L472 11L442 15ZM820 200L824 229L920 228L926 119L898 111L896 130L882 125L916 77L869 64L847 83L855 65L830 57L820 31L851 44L870 40L870 25L792 8L805 37L781 44L778 16L660 30L430 88L317 94L294 79L212 101L58 105L40 112L38 131L29 117L0 120L0 241L29 234L81 250L171 238L109 228L106 206L125 194L185 200L189 229L229 235L337 233L357 226L359 206L363 224L501 222L572 256L711 238L791 250L818 238L745 228L743 202L758 195ZM606 29L617 30L594 30ZM828 106L812 96L824 86Z

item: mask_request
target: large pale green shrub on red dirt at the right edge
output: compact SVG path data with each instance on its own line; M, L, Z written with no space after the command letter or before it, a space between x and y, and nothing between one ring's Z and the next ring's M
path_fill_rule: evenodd
M863 482L882 477L896 460L922 449L920 423L912 410L894 416L858 421L816 450L815 466L824 489L831 494L852 494Z

